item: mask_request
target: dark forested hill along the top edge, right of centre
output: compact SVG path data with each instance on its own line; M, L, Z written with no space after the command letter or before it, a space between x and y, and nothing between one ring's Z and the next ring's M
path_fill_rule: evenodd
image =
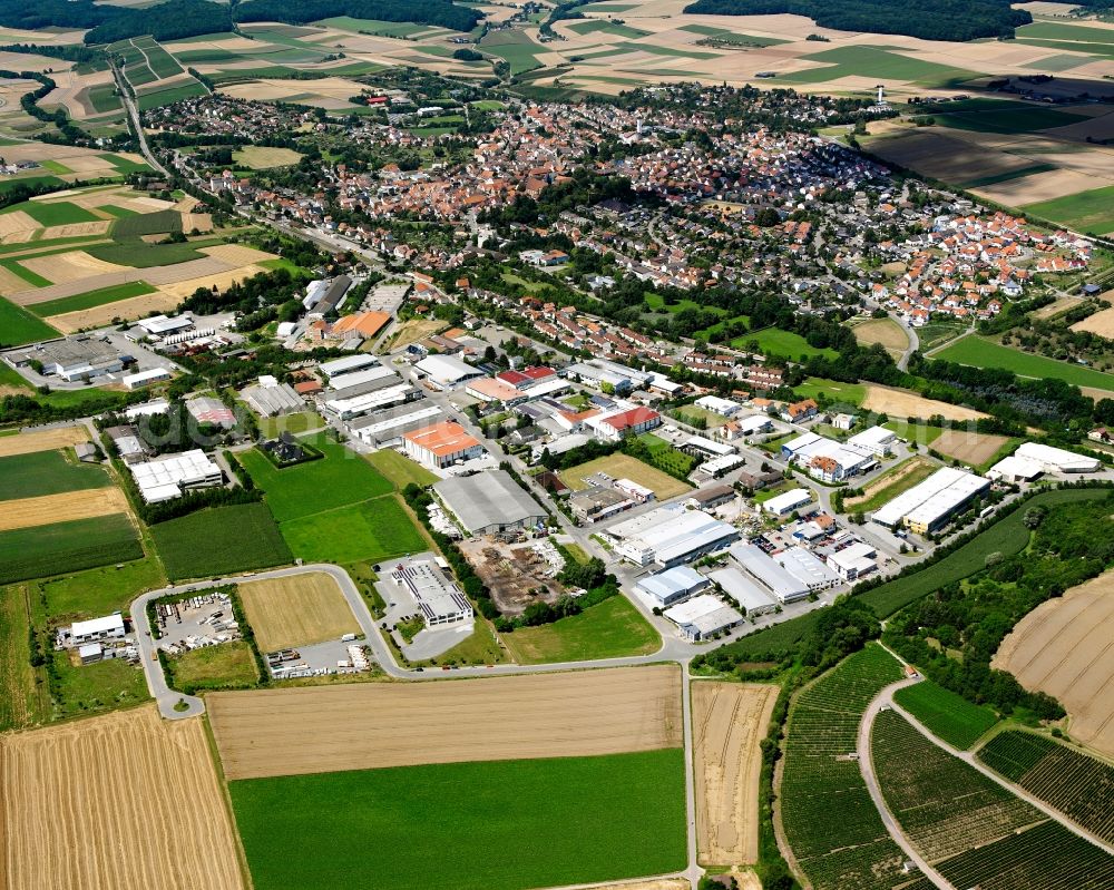
M1096 0L1091 0L1092 4ZM1114 0L1097 0L1110 4ZM763 16L790 12L808 16L823 28L906 35L922 40L975 40L1012 37L1033 21L1028 12L1010 9L1010 0L696 0L685 12L705 16Z

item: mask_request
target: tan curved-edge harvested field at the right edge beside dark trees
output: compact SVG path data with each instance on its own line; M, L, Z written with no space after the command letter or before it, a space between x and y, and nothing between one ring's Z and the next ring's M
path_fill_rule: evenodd
M1042 603L1007 636L991 667L1067 708L1073 739L1114 756L1114 573Z

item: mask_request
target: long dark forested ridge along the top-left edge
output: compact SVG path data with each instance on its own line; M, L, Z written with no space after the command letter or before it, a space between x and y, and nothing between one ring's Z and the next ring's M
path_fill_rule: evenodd
M238 21L304 25L334 16L434 25L470 31L481 14L450 0L246 0L235 7L208 0L167 0L143 9L98 6L91 0L0 0L0 26L21 30L58 27L88 30L86 43L113 43L152 35L177 40L231 31Z

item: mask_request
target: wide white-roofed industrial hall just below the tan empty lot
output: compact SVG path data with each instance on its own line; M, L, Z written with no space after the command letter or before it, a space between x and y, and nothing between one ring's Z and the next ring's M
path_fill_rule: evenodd
M615 552L638 566L654 563L672 568L691 563L739 539L739 530L701 510L658 507L612 526Z

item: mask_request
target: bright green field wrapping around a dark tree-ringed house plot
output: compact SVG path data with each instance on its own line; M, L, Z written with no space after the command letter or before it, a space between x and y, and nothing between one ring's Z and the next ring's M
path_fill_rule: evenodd
M238 454L255 485L265 492L267 507L280 522L393 490L391 482L354 451L325 436L306 441L325 457L280 470L258 451Z

